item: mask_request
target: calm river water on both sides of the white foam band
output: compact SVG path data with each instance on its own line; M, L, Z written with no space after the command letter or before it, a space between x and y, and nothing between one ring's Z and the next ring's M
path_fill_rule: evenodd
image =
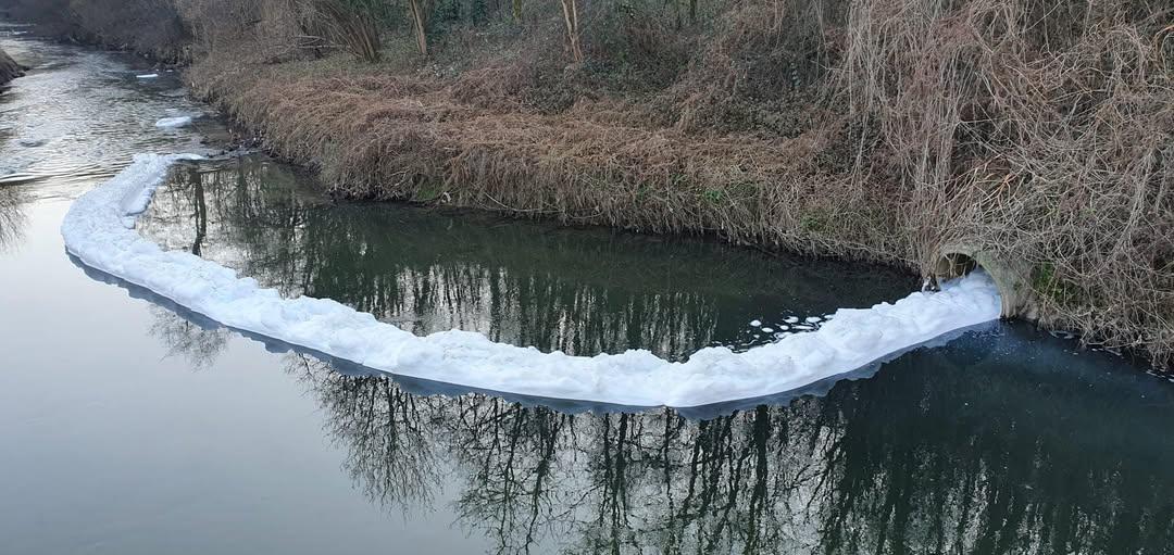
M1174 387L1026 325L803 395L626 411L323 360L87 271L59 232L73 199L225 131L155 127L204 111L177 75L13 31L34 70L0 94L0 553L1174 550ZM263 155L184 165L140 229L414 333L578 354L744 350L916 287L319 190Z

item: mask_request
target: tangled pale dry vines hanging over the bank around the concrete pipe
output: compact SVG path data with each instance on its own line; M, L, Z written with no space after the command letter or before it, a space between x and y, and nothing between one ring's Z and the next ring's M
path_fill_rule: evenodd
M1040 316L1174 354L1174 8L865 2L837 90L877 122L923 268L946 243L1032 269Z

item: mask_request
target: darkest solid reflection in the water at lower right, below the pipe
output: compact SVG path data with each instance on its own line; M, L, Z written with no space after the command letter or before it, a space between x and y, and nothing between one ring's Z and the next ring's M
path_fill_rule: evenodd
M1016 368L1016 356L1001 364ZM839 422L835 452L826 455L834 461L822 510L826 553L1165 550L1155 546L1168 542L1174 527L1165 517L1142 524L1141 515L1174 512L1169 500L1155 501L1147 490L1161 483L1168 495L1168 476L1158 480L1142 462L1167 452L1167 439L1084 418L1088 410L1119 413L1104 391L1075 401L1051 385L1040 398L1034 377L984 374L984 391L976 393L966 368L939 352L917 359L935 368L932 384L888 372L866 384L868 395L825 401L838 407Z

